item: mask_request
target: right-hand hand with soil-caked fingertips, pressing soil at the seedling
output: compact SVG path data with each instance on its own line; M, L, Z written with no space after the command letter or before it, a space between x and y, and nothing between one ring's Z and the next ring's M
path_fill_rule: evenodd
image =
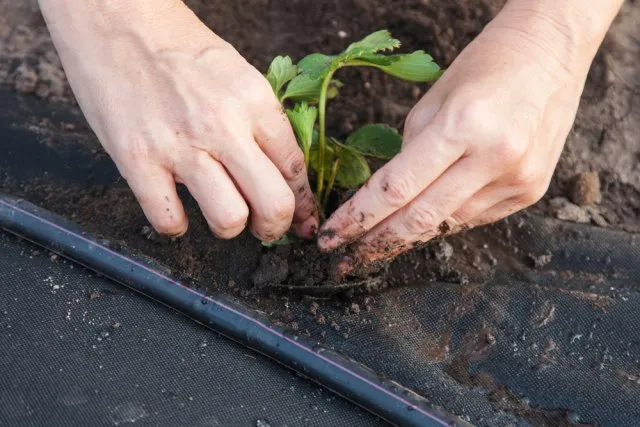
M460 54L409 114L402 151L324 224L321 249L353 243L339 273L499 220L543 196L590 58L563 56L563 38L526 34L510 18L494 21Z

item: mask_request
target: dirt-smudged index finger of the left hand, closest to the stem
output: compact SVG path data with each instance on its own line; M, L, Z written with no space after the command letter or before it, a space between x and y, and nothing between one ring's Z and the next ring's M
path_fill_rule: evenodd
M311 238L318 228L318 209L309 186L304 155L286 114L279 105L260 122L256 141L278 168L295 197L293 229L303 238Z

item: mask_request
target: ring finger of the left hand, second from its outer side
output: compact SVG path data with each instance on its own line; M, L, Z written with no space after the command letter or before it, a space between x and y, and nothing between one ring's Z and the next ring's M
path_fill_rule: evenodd
M211 231L222 239L244 230L249 208L227 171L209 153L195 150L175 171L198 202Z

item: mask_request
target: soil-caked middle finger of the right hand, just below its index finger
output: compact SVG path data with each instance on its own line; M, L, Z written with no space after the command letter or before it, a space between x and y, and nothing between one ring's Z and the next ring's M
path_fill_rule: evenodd
M471 158L458 161L410 204L368 232L352 248L353 267L395 257L462 225L454 213L491 179L476 163Z

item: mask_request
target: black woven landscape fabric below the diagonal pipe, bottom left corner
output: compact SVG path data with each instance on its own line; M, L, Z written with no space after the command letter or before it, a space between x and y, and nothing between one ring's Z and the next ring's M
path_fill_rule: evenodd
M0 425L376 426L271 360L0 233Z

